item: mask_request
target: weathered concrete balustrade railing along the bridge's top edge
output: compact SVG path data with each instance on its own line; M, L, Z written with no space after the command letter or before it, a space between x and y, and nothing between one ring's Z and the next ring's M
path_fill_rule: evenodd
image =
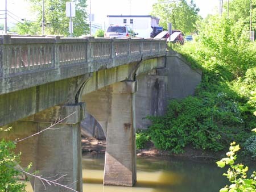
M102 65L111 68L140 61L142 57L153 58L166 54L166 40L10 35L0 37L0 79L25 75L30 78L33 73L40 76L41 72L56 71L51 80L44 79L44 74L35 84L94 72ZM63 68L72 69L72 73L67 70L63 74Z

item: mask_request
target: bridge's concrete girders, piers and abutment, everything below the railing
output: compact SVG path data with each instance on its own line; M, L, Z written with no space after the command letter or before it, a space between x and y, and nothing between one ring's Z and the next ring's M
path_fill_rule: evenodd
M106 136L104 184L133 186L135 128L148 126L150 122L143 120L147 115L162 115L168 99L193 94L201 80L200 73L183 60L173 63L171 57L167 57L167 65L164 57L143 60L0 95L2 125L13 127L1 137L29 137L68 116L51 129L19 141L16 151L23 153L23 167L32 162L31 171L38 170L44 177L67 174L60 182L72 183L72 189L82 191L80 122L88 113ZM31 182L39 192L68 191L58 187L45 190L40 181Z

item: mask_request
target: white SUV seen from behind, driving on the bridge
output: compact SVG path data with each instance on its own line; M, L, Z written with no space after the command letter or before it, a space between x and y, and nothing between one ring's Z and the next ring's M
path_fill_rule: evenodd
M135 37L138 34L130 26L109 26L104 37Z

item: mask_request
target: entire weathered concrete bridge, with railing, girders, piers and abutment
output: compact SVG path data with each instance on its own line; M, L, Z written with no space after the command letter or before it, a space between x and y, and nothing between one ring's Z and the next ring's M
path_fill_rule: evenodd
M13 127L0 136L18 140L21 166L32 162L31 171L44 177L67 174L60 182L77 191L85 114L106 137L104 185L133 186L135 128L146 128L145 116L163 114L168 99L193 94L201 81L177 53L166 56L165 40L4 35L0 61L0 126ZM34 191L67 191L31 182Z

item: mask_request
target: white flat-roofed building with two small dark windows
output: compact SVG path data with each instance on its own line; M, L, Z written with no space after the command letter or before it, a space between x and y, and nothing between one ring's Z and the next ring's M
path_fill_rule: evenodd
M129 25L137 37L150 37L151 27L159 26L159 18L151 15L107 15L108 25Z

